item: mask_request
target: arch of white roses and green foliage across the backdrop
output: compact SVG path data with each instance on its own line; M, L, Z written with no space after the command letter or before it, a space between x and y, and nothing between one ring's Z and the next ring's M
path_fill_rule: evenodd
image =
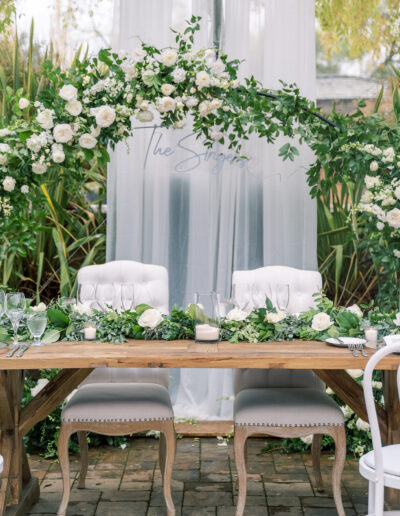
M36 207L47 202L56 219L43 178L84 181L88 170L105 167L107 148L131 135L133 117L150 122L156 113L162 125L179 129L190 116L204 145L218 142L238 156L252 134L271 143L279 135L305 141L316 156L307 171L311 195L341 184L353 206L353 231L380 271L381 292L390 292L393 302L400 265L398 125L378 123L377 113L364 116L362 105L350 117L334 113L327 124L295 85L269 92L254 77L239 84L238 60L212 48L195 50L199 22L193 16L176 34L176 48L142 43L131 54L101 50L75 59L67 71L45 63L48 87L34 105L17 94L14 121L0 129L3 237L11 242L18 233L23 252L23 239L35 234ZM297 154L291 143L280 149L282 159Z

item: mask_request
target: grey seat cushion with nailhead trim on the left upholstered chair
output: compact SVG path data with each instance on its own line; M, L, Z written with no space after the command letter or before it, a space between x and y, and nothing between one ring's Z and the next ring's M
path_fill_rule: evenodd
M65 422L173 419L165 387L154 383L94 383L80 387L62 411Z

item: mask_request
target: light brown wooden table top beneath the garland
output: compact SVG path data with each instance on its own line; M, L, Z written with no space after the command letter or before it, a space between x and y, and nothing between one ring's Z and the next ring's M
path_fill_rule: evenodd
M216 352L197 351L193 341L130 340L123 344L96 341L56 342L29 348L21 358L0 350L0 370L94 367L363 369L368 361L345 348L316 341L220 342ZM370 356L374 350L366 348ZM400 355L383 359L379 369L395 370Z

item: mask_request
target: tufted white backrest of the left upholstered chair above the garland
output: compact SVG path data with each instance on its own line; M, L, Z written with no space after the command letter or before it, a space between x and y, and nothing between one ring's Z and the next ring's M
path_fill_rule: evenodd
M117 296L121 283L133 283L136 305L144 303L157 308L162 313L168 313L168 272L160 265L132 260L88 265L78 272L78 284L85 283L114 283Z

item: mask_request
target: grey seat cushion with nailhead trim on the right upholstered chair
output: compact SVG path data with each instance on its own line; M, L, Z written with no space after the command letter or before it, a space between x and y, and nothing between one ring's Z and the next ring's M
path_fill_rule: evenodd
M240 426L342 426L344 416L327 394L316 389L245 389L235 399Z

